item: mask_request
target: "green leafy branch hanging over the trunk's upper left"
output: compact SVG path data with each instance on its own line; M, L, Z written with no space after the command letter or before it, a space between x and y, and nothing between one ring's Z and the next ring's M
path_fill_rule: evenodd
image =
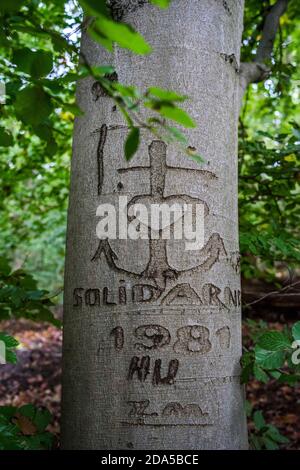
M140 33L131 25L113 18L109 2L79 0L79 3L85 18L81 29L84 29L102 47L112 52L114 45L117 44L135 54L151 52L151 46ZM167 8L170 0L152 0L151 3L160 8ZM74 85L78 79L90 76L97 81L106 95L113 99L129 127L124 146L127 160L137 151L140 129L144 128L158 138L177 142L181 150L196 162L203 161L197 155L196 149L188 145L180 130L168 123L174 121L184 128L195 127L192 118L178 106L178 103L187 97L156 87L142 92L135 86L126 86L116 80L111 81L108 76L115 73L113 67L94 67L88 63L82 53L80 54L82 63L78 72L68 71L68 67L64 65L61 74L58 69L61 68L62 62L67 61L68 55L79 56L77 45L70 42L70 34L67 36L63 30L60 32L53 30L47 23L40 24L40 18L32 2L24 6L20 2L12 2L10 5L5 2L0 14L7 33L7 46L11 49L8 61L0 68L0 74L10 77L13 85L7 87L8 104L13 106L17 119L47 142L48 149L55 151L55 132L53 133L55 128L50 123L53 112L63 108L75 115L81 114L81 110L74 102L65 101L65 86ZM52 46L46 42L47 50L32 50L32 47L23 45L28 39L29 42L34 41L35 35L42 36L45 41L50 39ZM36 103L39 103L38 107ZM147 115L149 111L154 112L154 115L147 119L143 118L142 114ZM11 132L2 128L0 146L10 146L13 142Z

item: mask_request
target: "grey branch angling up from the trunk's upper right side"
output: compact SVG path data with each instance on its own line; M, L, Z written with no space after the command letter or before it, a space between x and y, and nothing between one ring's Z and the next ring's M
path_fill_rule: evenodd
M258 45L254 61L242 62L240 65L240 102L250 83L263 81L270 73L270 69L265 62L271 58L280 17L286 11L287 6L288 0L277 0L275 5L272 6L264 22L262 39Z

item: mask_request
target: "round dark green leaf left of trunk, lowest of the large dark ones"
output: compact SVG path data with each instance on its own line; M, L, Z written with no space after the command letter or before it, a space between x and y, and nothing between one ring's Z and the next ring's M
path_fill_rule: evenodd
M50 96L39 86L21 90L15 101L17 117L25 124L37 126L52 112Z

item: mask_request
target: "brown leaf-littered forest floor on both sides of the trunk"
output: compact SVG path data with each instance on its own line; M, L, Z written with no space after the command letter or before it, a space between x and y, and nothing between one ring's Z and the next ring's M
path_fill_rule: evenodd
M282 324L270 322L271 329ZM18 320L6 322L1 330L13 334L21 345L16 365L0 366L0 405L33 403L48 408L53 415L49 430L59 439L61 398L61 331L45 324ZM282 449L300 449L300 387L256 380L247 385L247 398L269 424L290 439ZM252 428L252 423L249 423Z

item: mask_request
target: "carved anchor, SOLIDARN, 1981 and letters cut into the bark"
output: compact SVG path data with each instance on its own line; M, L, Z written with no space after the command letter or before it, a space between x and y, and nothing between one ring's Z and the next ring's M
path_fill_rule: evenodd
M224 2L226 3L226 2ZM226 4L227 5L227 4ZM94 84L95 85L95 84ZM102 90L95 85L92 90L95 100L102 95ZM111 128L103 124L99 132L99 142L97 146L97 194L103 194L104 187L104 159L105 144L108 131ZM172 194L166 196L166 178L168 172L178 172L197 174L204 179L204 184L214 184L218 177L215 173L202 169L173 168L167 164L167 146L160 140L154 140L148 146L149 166L127 167L118 170L120 180L116 180L117 184L114 192L127 192L126 178L131 172L146 171L149 175L150 191L132 197L127 205L127 219L132 220L133 216L129 216L130 209L134 204L142 203L146 206L150 204L192 204L195 206L202 203L204 206L204 216L210 214L210 210L205 201L197 197L187 194ZM121 176L124 175L124 176ZM202 249L193 253L195 262L192 267L175 269L168 257L168 241L163 239L162 231L159 231L158 238L151 238L151 230L149 233L149 258L147 263L139 272L135 272L128 266L124 266L120 259L119 252L115 251L111 242L99 240L90 254L92 263L106 263L107 267L115 273L118 279L114 286L97 285L76 287L73 291L73 305L75 308L84 306L89 308L97 308L100 306L107 307L108 311L114 311L113 307L127 307L135 304L156 304L161 305L161 310L170 310L170 313L184 313L185 308L181 308L177 312L177 306L186 306L186 310L190 307L191 311L199 310L202 313L202 307L209 307L208 314L214 312L229 311L240 306L240 291L229 286L219 287L211 282L202 285L197 284L196 275L208 273L216 263L227 263L235 273L239 270L239 254L238 252L230 252L228 254L224 240L219 233L211 233ZM121 278L121 279L120 279ZM211 277L209 277L210 279ZM187 282L187 279L189 282ZM204 279L205 276L204 276ZM129 280L129 282L127 282ZM194 283L192 282L194 281ZM199 309L193 307L199 306ZM166 308L170 307L170 308ZM125 309L124 309L125 310ZM120 309L123 312L123 308ZM125 310L126 311L126 310ZM147 310L141 309L138 313L151 312L151 307ZM206 312L205 309L203 309ZM198 313L198 312L197 312ZM135 318L135 317L133 317ZM140 317L141 318L141 317ZM171 319L172 317L170 317ZM188 317L189 318L189 317ZM200 318L200 317L199 317ZM202 318L202 317L201 317ZM221 317L222 318L222 317ZM115 320L114 320L115 321ZM135 321L135 320L134 320ZM151 320L153 321L153 320ZM200 320L202 322L202 320ZM122 323L122 322L121 322ZM187 323L187 324L185 324ZM114 351L117 358L126 358L126 369L124 371L124 379L130 382L130 392L132 395L136 393L137 388L145 390L151 387L151 396L155 393L163 392L168 388L182 385L184 380L193 380L195 377L189 377L185 368L191 358L195 358L193 367L198 359L207 356L208 362L214 360L214 356L221 356L220 352L229 351L231 348L231 329L226 321L220 324L218 319L217 326L210 319L204 324L190 324L191 320L186 320L182 326L167 328L164 325L149 322L134 326L132 331L124 330L123 326L117 325L111 329L107 341L110 344L110 351ZM205 324L207 323L207 324ZM170 325L170 323L169 323ZM129 350L129 353L128 353ZM166 358L166 355L170 357ZM180 357L180 360L176 356ZM175 356L175 357L174 357ZM123 362L122 362L123 363ZM185 374L178 375L179 371ZM191 369L193 370L193 368ZM194 374L194 372L193 372ZM176 384L176 379L178 383ZM180 397L182 395L179 395ZM128 397L127 397L128 398ZM134 397L136 398L136 397ZM139 395L137 396L139 398ZM186 394L186 400L164 402L160 405L160 409L154 409L148 398L143 399L127 399L129 406L126 425L146 425L155 422L155 425L195 425L206 426L211 425L212 416L211 409L209 412L203 409L198 403ZM128 419L129 418L129 419ZM157 421L160 418L162 421ZM149 424L151 425L151 423Z

